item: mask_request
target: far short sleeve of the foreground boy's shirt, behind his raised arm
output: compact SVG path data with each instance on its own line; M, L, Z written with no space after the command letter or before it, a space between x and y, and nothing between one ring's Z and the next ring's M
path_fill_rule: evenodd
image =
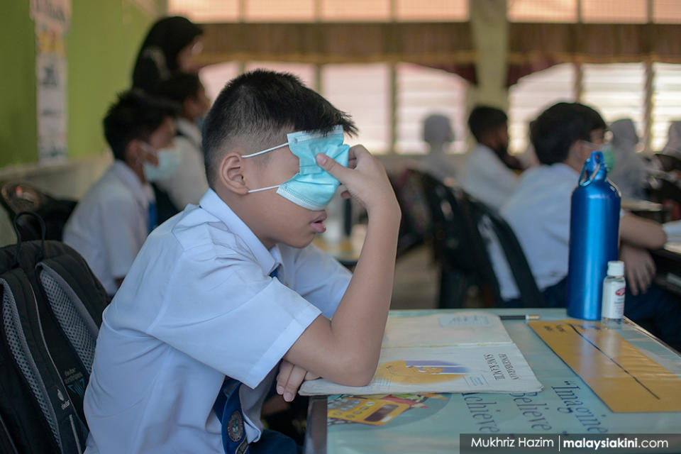
M352 273L335 258L315 245L297 252L294 289L331 319L348 289Z

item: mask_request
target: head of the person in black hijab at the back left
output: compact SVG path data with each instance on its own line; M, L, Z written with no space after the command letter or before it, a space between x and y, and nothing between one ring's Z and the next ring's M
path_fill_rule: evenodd
M192 57L201 51L201 27L182 16L161 18L149 30L133 69L133 88L155 94L173 72L199 71Z

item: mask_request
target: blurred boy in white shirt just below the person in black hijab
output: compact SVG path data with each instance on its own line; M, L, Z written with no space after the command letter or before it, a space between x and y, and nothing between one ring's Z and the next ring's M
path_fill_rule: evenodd
M177 213L187 204L198 204L208 189L204 153L201 151L201 130L196 123L206 116L211 104L197 74L174 74L161 82L158 93L179 105L179 116L175 118L177 136L173 148L182 156L182 162L175 175L155 182L170 197ZM159 206L160 223L175 214L164 215L162 211Z

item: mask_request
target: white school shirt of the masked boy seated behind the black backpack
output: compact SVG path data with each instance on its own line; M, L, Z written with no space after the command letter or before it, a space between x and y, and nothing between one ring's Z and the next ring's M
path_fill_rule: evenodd
M64 227L64 243L83 256L108 294L125 277L149 233L154 192L116 160L78 202Z

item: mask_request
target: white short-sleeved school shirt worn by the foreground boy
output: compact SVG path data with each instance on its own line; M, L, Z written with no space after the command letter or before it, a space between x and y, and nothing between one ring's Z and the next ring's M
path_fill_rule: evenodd
M257 441L279 360L319 314L333 315L349 282L314 245L267 250L209 189L151 233L104 311L87 454L223 453L213 404L226 375L243 382Z

